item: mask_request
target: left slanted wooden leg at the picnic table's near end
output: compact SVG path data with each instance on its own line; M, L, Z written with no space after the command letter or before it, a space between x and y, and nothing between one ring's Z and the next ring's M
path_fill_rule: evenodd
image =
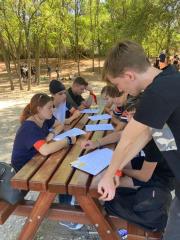
M18 240L32 240L43 221L56 193L41 192L34 207L26 220Z

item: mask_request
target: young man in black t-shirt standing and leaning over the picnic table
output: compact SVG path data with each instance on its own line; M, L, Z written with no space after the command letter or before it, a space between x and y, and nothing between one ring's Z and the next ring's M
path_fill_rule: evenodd
M106 79L120 91L136 96L144 91L133 119L123 131L111 164L98 184L100 199L114 198L114 174L152 138L175 176L176 197L171 205L164 240L180 239L180 73L172 66L151 66L134 42L118 43L104 63Z

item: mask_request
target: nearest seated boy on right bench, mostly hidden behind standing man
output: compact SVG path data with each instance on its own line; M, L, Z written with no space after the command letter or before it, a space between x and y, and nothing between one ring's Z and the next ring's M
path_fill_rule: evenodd
M128 99L125 106L128 122L133 118L138 103L139 97ZM122 131L114 132L98 141L83 141L81 146L87 150L100 148L104 145L118 142L121 134ZM163 189L168 188L170 191L174 189L174 176L153 140L123 168L123 173L125 174L123 177L119 179L118 176L116 177L117 186L119 187L158 186Z

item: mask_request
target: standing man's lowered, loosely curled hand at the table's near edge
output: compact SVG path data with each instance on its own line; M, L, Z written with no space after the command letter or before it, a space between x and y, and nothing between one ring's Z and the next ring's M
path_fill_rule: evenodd
M115 196L115 190L114 178L104 175L98 184L98 193L101 195L99 200L112 200Z

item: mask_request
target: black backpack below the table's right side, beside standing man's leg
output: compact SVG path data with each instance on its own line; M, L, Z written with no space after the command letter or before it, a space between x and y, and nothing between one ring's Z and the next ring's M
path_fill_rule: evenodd
M170 191L160 187L118 188L115 198L106 202L105 208L109 214L146 230L163 231L171 201Z

